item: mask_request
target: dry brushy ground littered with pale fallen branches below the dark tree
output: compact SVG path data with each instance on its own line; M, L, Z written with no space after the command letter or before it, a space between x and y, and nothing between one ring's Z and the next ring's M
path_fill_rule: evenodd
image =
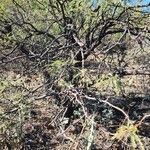
M98 69L88 67L79 84L97 79ZM149 75L125 76L120 87L116 77L100 68L100 79L86 90L62 85L66 83L60 79L63 87L57 99L45 94L40 72L24 75L11 68L1 70L2 149L149 149ZM94 98L94 93L101 98ZM65 104L67 99L72 104Z

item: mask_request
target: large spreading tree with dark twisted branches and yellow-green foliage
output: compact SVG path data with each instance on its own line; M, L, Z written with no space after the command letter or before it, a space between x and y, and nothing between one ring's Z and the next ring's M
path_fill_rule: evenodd
M98 1L96 7L88 0L7 0L1 4L3 66L20 60L27 71L45 70L55 61L67 61L67 66L84 68L89 56L103 55L103 60L109 58L107 66L113 75L149 74L125 70L126 54L149 46L150 14L143 12L149 4L128 6L115 0ZM73 79L73 72L68 70L68 80Z

